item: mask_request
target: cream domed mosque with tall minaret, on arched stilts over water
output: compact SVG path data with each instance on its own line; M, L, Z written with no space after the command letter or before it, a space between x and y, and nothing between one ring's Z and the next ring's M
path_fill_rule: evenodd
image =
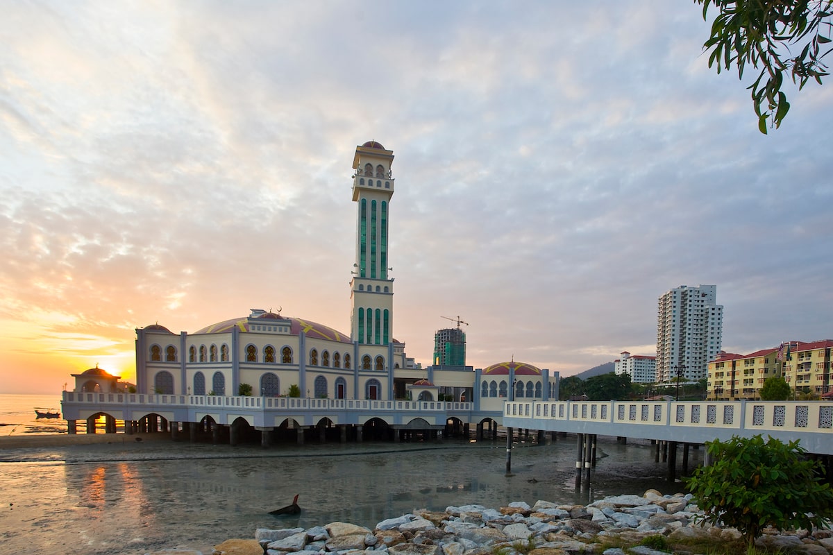
M424 425L436 430L452 419L465 427L477 424L478 429L486 423L491 429L499 424L506 400L557 399L557 372L514 357L483 369L467 366L465 334L460 330L465 322L459 317L456 329L436 333L434 357L425 368L407 356L404 342L395 339L389 234L395 217L393 159L393 151L377 141L357 146L353 157L356 254L352 268L345 269L352 276L349 330L283 315L281 308L251 309L191 333L175 334L159 323L137 328L135 393L119 391L117 377L103 369L72 374L75 387L65 392L63 402L70 433L77 419L87 419L89 424L89 419L102 415L125 420L128 432L148 417L165 426L172 422L177 429L185 422L204 427L206 419L215 425L231 425L237 418L265 430L339 421L361 426L365 417L393 428ZM134 409L122 409L123 402L114 409L107 400L112 395L132 395ZM174 399L175 406L159 406L157 399L162 398ZM260 400L255 403L253 399ZM276 399L305 400L306 404L288 414L279 410ZM339 407L358 401L367 402L368 407L382 406L387 412L336 414ZM402 411L407 414L398 414L397 407L406 405L395 402L407 402L408 410ZM447 405L454 414L426 418L420 410L412 410L416 403ZM228 409L250 405L252 414ZM336 412L316 412L315 406L335 407ZM108 424L107 431L111 428Z

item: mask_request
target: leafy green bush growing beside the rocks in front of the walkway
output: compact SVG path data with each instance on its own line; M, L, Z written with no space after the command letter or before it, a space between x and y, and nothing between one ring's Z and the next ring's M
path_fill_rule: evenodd
M823 528L833 518L833 490L821 482L821 463L806 458L798 440L760 435L706 443L710 466L686 479L706 522L737 528L746 544L767 526Z

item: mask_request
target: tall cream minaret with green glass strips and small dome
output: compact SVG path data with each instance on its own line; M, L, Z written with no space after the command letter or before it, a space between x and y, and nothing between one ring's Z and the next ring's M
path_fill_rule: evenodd
M387 277L387 224L393 196L393 151L376 141L356 147L353 201L358 203L356 262L351 280L353 341L387 345L393 340L393 280Z

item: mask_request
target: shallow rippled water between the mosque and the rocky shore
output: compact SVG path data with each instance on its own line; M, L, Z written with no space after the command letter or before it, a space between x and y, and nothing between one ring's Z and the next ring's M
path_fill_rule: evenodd
M583 503L573 488L575 444L516 448L506 476L503 445L351 444L260 448L227 445L95 445L42 453L66 463L0 463L0 518L9 553L146 553L184 546L211 553L256 528L345 521L372 528L415 508L546 499ZM699 452L694 452L699 453ZM667 484L646 444L600 444L591 498ZM691 465L698 455L691 457ZM93 459L98 459L93 460ZM88 461L88 462L81 462ZM298 493L302 513L267 514Z

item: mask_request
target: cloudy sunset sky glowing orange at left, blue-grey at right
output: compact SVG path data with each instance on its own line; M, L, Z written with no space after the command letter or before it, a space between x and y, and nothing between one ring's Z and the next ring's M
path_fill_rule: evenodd
M0 393L134 379L155 323L349 332L371 140L423 366L448 318L475 368L653 355L680 285L726 351L833 337L833 86L762 135L694 2L0 3Z

